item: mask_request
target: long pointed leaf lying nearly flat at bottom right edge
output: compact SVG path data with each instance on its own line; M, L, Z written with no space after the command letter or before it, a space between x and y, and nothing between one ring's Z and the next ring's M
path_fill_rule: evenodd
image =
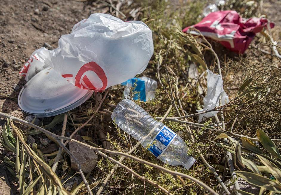
M271 179L247 171L236 171L236 173L253 185L263 187L270 191L281 192L281 185Z

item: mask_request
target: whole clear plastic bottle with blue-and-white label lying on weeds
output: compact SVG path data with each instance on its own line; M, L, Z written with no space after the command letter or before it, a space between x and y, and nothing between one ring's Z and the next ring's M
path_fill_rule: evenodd
M144 148L169 165L183 165L189 169L195 159L187 154L183 139L162 122L152 118L132 100L123 99L112 115L119 128L141 142Z

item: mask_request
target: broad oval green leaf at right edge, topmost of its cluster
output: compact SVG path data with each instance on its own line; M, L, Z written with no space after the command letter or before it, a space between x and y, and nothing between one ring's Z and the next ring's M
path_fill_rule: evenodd
M263 147L269 153L271 153L272 156L275 156L276 158L281 159L281 155L280 155L278 149L276 148L276 145L272 142L272 140L266 135L266 133L263 130L261 130L261 129L257 130L257 137L259 138Z

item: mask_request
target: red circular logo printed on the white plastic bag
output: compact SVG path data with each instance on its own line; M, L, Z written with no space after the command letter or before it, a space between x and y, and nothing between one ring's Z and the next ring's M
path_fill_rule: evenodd
M101 79L101 88L95 87L89 80L88 76L91 74L91 72L94 72ZM107 77L104 73L104 70L97 63L89 62L84 64L75 76L75 86L83 89L105 90L107 86Z

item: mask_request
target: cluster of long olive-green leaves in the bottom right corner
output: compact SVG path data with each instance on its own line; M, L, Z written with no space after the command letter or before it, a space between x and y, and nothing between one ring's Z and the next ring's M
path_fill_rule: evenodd
M260 194L267 190L270 194L281 192L281 156L274 142L261 130L257 130L258 141L265 148L263 152L253 141L242 137L236 140L226 133L216 139L227 138L228 143L216 143L217 146L234 154L237 175L247 182L260 187ZM242 145L241 145L242 144ZM245 193L240 191L241 193Z

